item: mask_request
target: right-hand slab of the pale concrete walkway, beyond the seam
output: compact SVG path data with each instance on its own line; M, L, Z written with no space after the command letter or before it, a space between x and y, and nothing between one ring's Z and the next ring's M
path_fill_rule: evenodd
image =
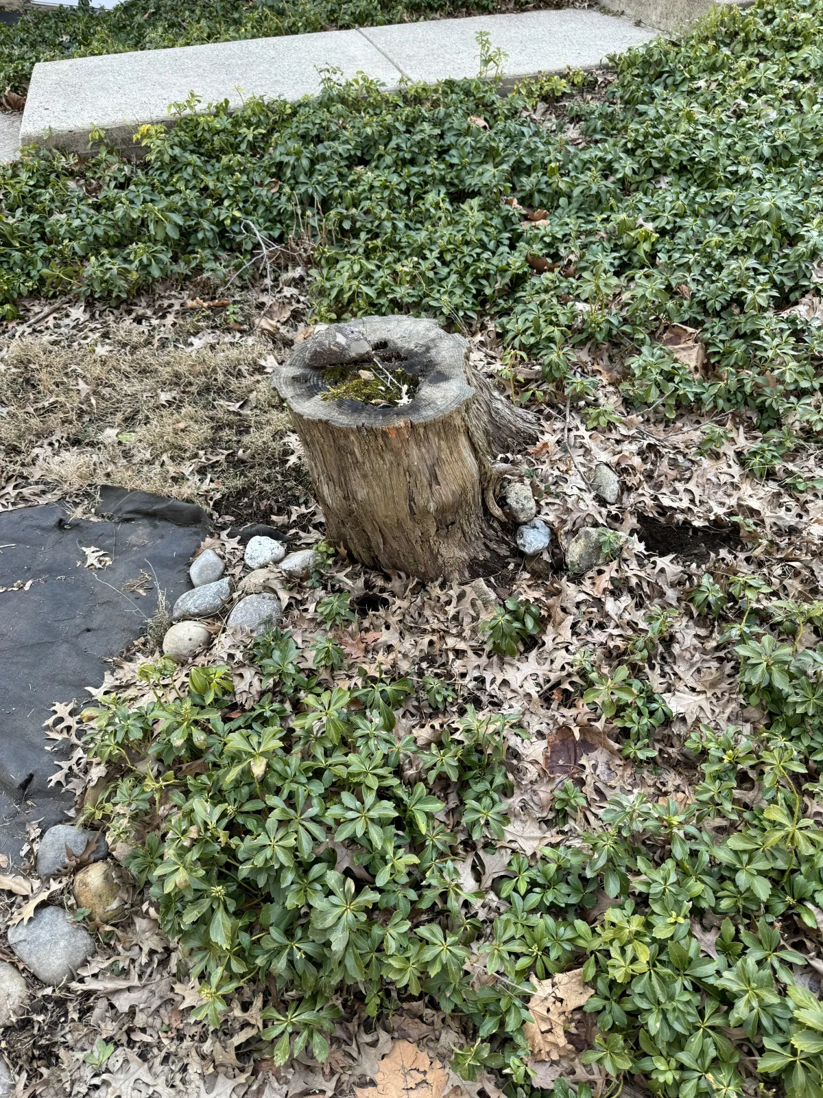
M371 26L360 33L404 76L433 83L477 75L480 31L488 33L493 48L508 54L504 74L509 80L535 72L561 72L570 65L591 68L609 54L622 53L655 36L654 31L625 20L573 9Z

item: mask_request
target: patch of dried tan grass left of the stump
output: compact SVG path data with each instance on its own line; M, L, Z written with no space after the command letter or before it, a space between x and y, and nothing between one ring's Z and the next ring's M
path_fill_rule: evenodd
M192 336L192 326L183 314L158 336L114 313L86 340L82 325L9 339L3 479L68 495L114 483L241 519L304 497L300 463L285 471L290 423L269 377L272 351L288 348L219 327Z

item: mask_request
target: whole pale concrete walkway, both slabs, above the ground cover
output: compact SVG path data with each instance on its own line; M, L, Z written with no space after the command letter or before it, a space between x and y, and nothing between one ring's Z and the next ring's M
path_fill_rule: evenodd
M509 55L509 81L568 66L590 68L657 34L615 15L566 9L40 63L21 141L83 152L89 131L99 126L110 142L131 146L138 126L168 122L168 105L192 91L203 108L223 99L237 108L249 96L294 101L320 90L319 70L327 66L341 69L341 79L364 72L387 89L403 77L433 82L476 76L478 31Z

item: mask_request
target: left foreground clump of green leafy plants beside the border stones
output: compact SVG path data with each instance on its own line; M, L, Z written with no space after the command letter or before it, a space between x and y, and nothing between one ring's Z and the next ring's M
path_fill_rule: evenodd
M149 704L109 696L86 713L90 750L119 774L93 815L112 838L140 839L127 863L200 979L196 1017L218 1024L227 994L268 976L282 993L263 1016L268 1051L278 1063L304 1047L324 1060L341 991L364 989L374 1015L424 989L520 1050L526 968L512 946L481 944L489 972L501 965L518 984L514 998L508 982L472 988L463 966L481 894L465 892L456 865L459 848L503 838L516 717L467 707L419 755L425 781L406 783L414 740L393 729L409 680L361 671L353 691L325 688L280 631L256 659L269 692L244 713L225 668L192 669L178 692L166 660L142 669ZM436 818L450 788L459 834Z

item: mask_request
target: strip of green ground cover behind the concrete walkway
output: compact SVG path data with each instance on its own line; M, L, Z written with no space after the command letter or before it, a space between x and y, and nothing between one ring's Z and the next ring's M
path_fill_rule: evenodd
M105 11L80 0L77 8L29 10L13 25L0 24L0 89L24 92L37 61L381 26L503 7L497 0L125 0ZM505 10L512 7L555 4L516 3Z

